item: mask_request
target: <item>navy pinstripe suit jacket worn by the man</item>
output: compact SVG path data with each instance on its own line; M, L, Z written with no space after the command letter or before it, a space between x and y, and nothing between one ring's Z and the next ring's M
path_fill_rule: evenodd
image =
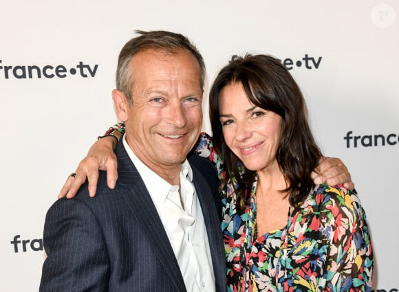
M122 141L116 155L119 178L114 190L100 172L94 198L89 198L85 183L74 199L60 199L47 212L41 292L186 291L160 216ZM188 161L204 214L216 291L224 292L216 172L207 159L188 155Z

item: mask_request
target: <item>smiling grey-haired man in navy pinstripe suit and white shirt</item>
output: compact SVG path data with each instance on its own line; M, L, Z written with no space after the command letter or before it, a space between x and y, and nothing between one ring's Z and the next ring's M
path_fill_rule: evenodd
M112 92L126 133L118 181L101 172L47 213L40 291L225 291L216 172L190 155L202 126L204 61L181 34L139 32ZM114 194L114 195L113 195Z

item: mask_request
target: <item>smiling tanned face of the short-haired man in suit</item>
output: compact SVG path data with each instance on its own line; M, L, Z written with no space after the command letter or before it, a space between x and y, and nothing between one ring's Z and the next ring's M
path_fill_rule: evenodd
M202 126L200 65L186 49L147 49L133 56L131 70L127 142L153 171L180 170Z

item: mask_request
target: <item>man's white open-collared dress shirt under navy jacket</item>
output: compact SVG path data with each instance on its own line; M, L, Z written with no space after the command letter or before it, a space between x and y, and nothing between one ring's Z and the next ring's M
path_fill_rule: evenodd
M127 144L126 135L123 137L123 145L160 215L187 291L215 291L208 235L200 201L193 185L193 170L188 160L186 159L180 168L183 208L179 186L172 186L143 164Z

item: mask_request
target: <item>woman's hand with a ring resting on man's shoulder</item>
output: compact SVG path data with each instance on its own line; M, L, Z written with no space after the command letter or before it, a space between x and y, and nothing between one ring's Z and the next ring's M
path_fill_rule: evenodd
M78 192L80 186L89 180L89 194L96 195L98 170L107 171L107 185L109 188L115 188L116 180L118 179L116 155L114 148L116 146L116 139L114 137L103 137L94 143L85 159L80 161L78 168L76 168L76 176L69 176L65 181L63 188L58 194L58 199L63 196L72 198Z

